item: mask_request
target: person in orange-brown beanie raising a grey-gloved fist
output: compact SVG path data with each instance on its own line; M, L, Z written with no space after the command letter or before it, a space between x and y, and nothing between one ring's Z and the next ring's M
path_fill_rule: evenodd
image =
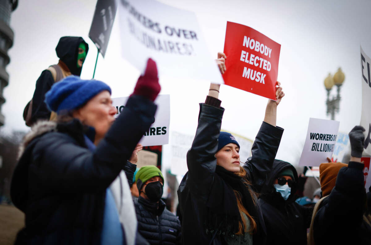
M371 244L371 215L364 183L365 129L355 126L349 132L351 158L348 164L321 163L319 179L322 196L315 205L309 245Z

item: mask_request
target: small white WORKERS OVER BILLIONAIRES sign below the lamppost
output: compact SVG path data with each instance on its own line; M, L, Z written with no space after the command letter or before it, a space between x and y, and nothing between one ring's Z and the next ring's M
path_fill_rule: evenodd
M299 166L319 166L328 162L334 152L339 131L339 122L318 118L309 118L308 132Z

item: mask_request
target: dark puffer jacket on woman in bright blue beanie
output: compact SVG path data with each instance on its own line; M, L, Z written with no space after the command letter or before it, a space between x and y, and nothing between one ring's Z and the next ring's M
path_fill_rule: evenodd
M87 149L79 120L37 123L10 190L26 215L16 244L100 244L106 188L154 122L155 111L150 100L131 96L95 152Z

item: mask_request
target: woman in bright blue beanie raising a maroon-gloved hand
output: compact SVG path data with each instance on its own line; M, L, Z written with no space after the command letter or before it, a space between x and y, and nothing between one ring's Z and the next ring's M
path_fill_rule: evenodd
M155 120L160 89L148 59L115 119L105 83L68 76L52 86L45 101L58 119L32 127L13 173L10 195L25 213L15 244L134 245L137 219L122 170Z

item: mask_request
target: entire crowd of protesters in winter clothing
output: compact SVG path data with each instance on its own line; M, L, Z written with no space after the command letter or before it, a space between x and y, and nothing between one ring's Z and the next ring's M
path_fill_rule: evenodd
M147 60L115 119L111 88L79 77L88 44L62 37L56 53L58 64L41 73L24 110L32 128L11 185L12 201L25 213L16 244L371 244L362 126L349 133L350 161L322 163L321 189L309 205L300 205L302 176L276 159L283 135L276 126L285 96L280 82L244 162L234 136L220 131L220 85L211 83L200 103L175 216L161 199L161 170L136 165L138 142L154 122L161 90L155 61ZM218 53L221 73L225 59Z

